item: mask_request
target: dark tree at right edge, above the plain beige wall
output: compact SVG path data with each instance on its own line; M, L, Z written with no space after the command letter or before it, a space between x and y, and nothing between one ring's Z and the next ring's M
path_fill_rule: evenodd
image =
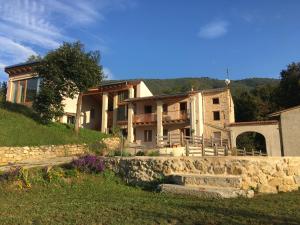
M300 63L291 63L282 70L277 89L277 104L281 108L300 105Z

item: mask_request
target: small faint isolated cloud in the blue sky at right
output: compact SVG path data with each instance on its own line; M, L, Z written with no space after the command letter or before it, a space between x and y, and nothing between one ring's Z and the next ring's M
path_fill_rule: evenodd
M200 38L214 39L225 35L228 31L227 21L214 21L201 27L198 36Z

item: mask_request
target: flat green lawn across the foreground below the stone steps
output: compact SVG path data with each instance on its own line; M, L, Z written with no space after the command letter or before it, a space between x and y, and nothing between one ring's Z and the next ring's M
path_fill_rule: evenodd
M198 199L130 187L107 172L35 179L26 190L2 184L0 199L0 224L300 224L299 191Z

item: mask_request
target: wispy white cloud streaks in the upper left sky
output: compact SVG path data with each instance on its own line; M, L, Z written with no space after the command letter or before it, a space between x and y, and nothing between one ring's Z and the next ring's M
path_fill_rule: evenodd
M86 28L104 20L111 10L132 7L132 1L0 0L0 65L19 63L37 54L35 49L49 50L72 41L67 28Z

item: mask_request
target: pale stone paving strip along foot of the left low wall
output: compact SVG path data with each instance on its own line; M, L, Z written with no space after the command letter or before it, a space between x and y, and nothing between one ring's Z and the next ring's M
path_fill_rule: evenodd
M17 163L11 163L8 165L0 166L0 171L7 171L12 167L21 166L23 168L32 168L32 167L46 167L54 165L62 165L65 163L71 162L73 159L77 158L76 156L68 157L52 157L45 159L35 159L35 160L24 160Z

